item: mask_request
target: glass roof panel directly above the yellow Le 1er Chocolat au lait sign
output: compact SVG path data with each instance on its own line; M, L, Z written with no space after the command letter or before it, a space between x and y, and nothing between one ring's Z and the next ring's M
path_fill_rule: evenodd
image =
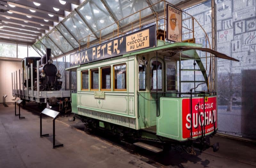
M114 15L116 16L117 20L120 20L126 16L129 16L135 12L140 11L143 8L148 7L148 3L144 0L129 0L129 1L113 1L113 0L106 0L108 6L110 7L111 11L113 11ZM141 17L147 16L152 13L151 9L148 8L147 10L141 11ZM119 24L122 26L131 23L132 21L139 20L140 13L133 14L132 16L121 20Z

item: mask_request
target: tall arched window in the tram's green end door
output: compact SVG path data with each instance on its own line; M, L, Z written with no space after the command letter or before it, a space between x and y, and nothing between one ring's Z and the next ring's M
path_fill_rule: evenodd
M162 90L162 63L159 61L153 61L151 64L151 90L156 90L156 83L157 90Z

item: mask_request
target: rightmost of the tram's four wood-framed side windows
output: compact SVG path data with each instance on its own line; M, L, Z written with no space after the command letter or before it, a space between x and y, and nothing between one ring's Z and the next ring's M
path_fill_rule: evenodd
M126 64L114 65L114 90L126 90Z

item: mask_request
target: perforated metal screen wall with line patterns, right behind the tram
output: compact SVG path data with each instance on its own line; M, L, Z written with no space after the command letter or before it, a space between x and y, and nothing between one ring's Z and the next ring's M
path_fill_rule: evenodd
M218 59L219 132L256 138L256 1L215 2L218 51L240 60ZM185 11L211 38L211 0ZM204 43L202 30L195 31L196 43Z

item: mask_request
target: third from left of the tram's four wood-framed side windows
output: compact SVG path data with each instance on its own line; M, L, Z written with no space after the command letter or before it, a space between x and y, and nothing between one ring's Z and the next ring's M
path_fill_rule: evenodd
M110 90L111 89L111 67L101 68L101 89Z

